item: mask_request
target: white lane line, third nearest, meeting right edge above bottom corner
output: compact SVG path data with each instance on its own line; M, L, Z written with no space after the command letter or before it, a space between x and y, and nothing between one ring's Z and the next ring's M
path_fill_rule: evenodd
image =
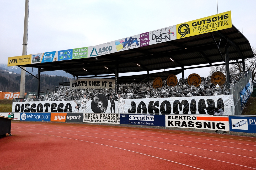
M33 128L34 128L34 127L33 127ZM40 128L40 129L50 129L50 128ZM25 130L25 129L24 129L24 130ZM29 129L29 130L42 131L42 130L36 130L36 129ZM61 130L61 129L53 129L53 130ZM71 130L64 130L64 129L63 129L63 131L71 131ZM50 132L51 132L51 131L50 131ZM71 131L71 132L82 132L82 131ZM121 138L129 138L129 139L137 139L137 140L151 141L151 142L157 142L157 143L163 143L163 144L170 144L170 145L176 145L176 146L184 146L184 147L188 147L188 148L201 149L201 150L207 150L207 151L212 151L212 152L218 152L218 153L222 153L222 154L229 154L229 155L235 155L235 156L241 156L241 157L256 159L256 158L249 157L249 156L236 155L236 154L231 154L231 153L227 153L227 152L220 152L220 151L214 151L214 150L209 150L209 149L196 148L196 147L192 147L192 146L178 145L178 144L172 144L172 143L166 143L166 142L159 142L159 141L154 141L154 140L146 140L146 139L139 139L139 138L130 138L130 137L123 137L123 136L116 136L116 135L108 135L108 134L101 134L101 133L92 133L92 132L82 132L82 133L90 133L90 134L97 134L97 135L106 135L106 136L113 136L113 137L121 137Z

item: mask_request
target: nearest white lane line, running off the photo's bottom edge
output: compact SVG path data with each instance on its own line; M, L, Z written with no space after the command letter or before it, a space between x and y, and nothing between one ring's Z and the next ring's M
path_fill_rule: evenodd
M23 132L23 131L16 131L16 132ZM25 132L25 133L34 133L34 132ZM67 138L67 137L56 136L56 135L49 135L49 134L42 134L42 133L35 133L35 134L48 135L48 136L54 136L54 137L59 137L59 138L66 138L66 139L73 139L73 138ZM115 146L104 145L104 144L95 143L95 142L90 142L90 141L86 141L86 140L80 140L80 139L73 139L73 140L78 140L78 141L93 143L93 144L97 144L97 145L108 146L108 147L111 147L111 148L121 149L121 150L125 150L125 151L130 151L130 152L134 152L134 153L137 153L137 154L141 154L141 155L146 155L146 156L158 158L158 159L161 159L161 160L165 160L165 161L169 161L169 162L173 162L173 163L178 163L178 164L180 164L180 165L188 166L188 167L191 167L191 168L200 169L200 168L196 168L196 167L193 167L193 166L190 166L190 165L186 165L186 164L183 164L183 163L179 163L179 162L167 160L167 159L164 159L164 158L159 158L159 157L152 156L152 155L143 154L143 153L136 152L136 151L132 151L132 150L127 150L127 149L123 149L123 148L118 148L118 147L115 147ZM200 170L204 170L204 169L200 169Z

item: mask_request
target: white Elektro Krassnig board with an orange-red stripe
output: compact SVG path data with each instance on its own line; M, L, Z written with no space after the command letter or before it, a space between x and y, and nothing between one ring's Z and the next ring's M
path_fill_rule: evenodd
M166 127L228 131L228 116L165 115Z

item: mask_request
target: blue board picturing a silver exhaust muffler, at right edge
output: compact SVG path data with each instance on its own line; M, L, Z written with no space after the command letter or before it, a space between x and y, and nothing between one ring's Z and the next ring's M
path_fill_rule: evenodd
M256 133L256 117L230 116L229 129L233 132Z

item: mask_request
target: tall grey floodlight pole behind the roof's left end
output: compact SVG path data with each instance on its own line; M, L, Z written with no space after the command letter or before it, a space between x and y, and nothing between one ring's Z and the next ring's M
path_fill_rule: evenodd
M25 18L24 18L24 33L23 33L23 49L22 55L27 55L27 46L28 46L28 9L29 9L29 0L25 1ZM26 67L22 67L26 70ZM20 98L25 96L25 76L26 72L21 69L20 74Z

